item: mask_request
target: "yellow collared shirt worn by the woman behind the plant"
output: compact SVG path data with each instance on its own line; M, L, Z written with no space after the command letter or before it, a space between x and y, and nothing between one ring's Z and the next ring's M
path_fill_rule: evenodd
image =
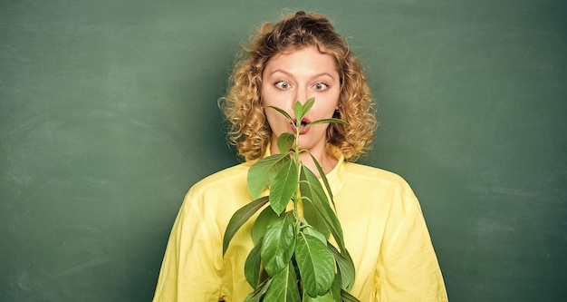
M154 302L243 301L253 221L232 239L228 220L250 202L251 163L216 172L191 188L178 213L159 273ZM356 278L360 301L447 301L428 229L407 182L389 171L339 161L327 175ZM252 219L251 219L252 220Z

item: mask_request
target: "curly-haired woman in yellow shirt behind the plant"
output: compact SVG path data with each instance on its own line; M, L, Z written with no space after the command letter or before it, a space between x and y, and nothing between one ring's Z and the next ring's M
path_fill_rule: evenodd
M284 17L264 24L235 64L221 108L229 141L245 162L199 181L188 191L171 231L156 290L161 301L242 301L253 290L244 263L253 248L238 231L226 255L222 240L234 214L251 201L246 173L277 153L275 140L294 126L267 106L293 116L293 102L315 98L304 124L340 118L347 124L300 129L300 147L322 165L356 268L351 294L360 301L447 301L437 257L418 200L405 180L356 164L376 128L371 93L359 60L323 15ZM310 158L303 163L317 169Z

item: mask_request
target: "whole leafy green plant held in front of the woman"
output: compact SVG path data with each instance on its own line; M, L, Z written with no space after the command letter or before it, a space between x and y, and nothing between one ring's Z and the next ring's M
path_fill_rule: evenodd
M245 260L245 278L255 288L245 301L358 301L349 294L354 283L354 265L345 248L331 187L321 165L307 150L299 148L301 121L315 100L295 102L295 133L278 137L279 154L255 162L248 171L248 190L255 199L238 209L226 227L223 255L236 231L256 212L252 228L254 248ZM282 109L290 122L293 118ZM324 119L310 122L343 121ZM299 160L308 152L321 175L317 176ZM268 196L261 197L269 188ZM288 204L293 209L286 211ZM300 215L300 203L303 215ZM269 204L269 206L265 206ZM335 248L328 240L336 242Z

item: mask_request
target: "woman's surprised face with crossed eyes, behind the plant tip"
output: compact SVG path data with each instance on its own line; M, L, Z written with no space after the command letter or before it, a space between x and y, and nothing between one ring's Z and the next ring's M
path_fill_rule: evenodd
M331 118L338 109L340 93L341 81L331 54L322 54L316 47L309 46L274 55L262 73L262 100L273 132L272 145L283 132L294 133L295 127L280 112L267 106L281 108L294 118L293 103L304 103L313 97L315 103L303 117L302 122L306 124ZM324 150L328 126L300 128L300 147Z

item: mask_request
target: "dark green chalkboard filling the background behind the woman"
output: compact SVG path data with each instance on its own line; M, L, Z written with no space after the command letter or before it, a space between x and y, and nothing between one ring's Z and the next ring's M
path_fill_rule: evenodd
M567 3L0 1L0 300L149 301L188 188L239 160L216 100L265 20L328 15L452 301L567 296Z

